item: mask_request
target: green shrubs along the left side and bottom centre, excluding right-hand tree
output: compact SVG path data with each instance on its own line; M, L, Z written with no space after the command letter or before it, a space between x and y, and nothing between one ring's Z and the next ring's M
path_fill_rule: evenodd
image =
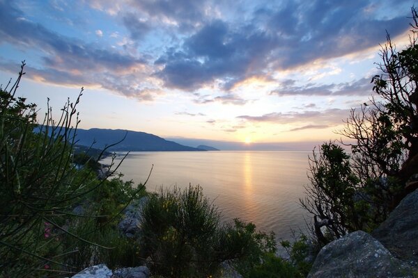
M10 204L0 208L0 277L63 277L98 263L147 263L164 277L216 277L227 265L245 277L277 269L301 277L275 256L274 234L238 219L222 223L199 186L149 195L140 240L121 235L121 211L148 195L144 186L121 174L109 179L118 165L99 179L105 150L75 146L82 92L58 122L48 108L38 124L36 105L15 97L23 70L0 90L0 202Z

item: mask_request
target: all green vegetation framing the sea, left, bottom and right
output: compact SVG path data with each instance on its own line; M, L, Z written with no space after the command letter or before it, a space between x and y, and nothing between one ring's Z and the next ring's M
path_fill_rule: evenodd
M415 8L412 19L408 47L397 51L387 36L374 95L351 111L341 131L350 142L326 142L310 158L311 184L301 204L314 216L318 246L373 230L418 187ZM38 124L36 105L15 97L23 70L24 63L17 81L0 88L0 202L6 204L0 208L0 277L62 277L97 263L146 263L163 277L217 277L228 269L243 277L308 274L311 240L282 241L289 254L282 259L274 234L238 219L223 223L199 186L150 195L122 175L109 179L113 170L99 179L105 150L93 157L75 148L82 92L63 106L58 121L48 107ZM117 228L121 212L143 196L141 236L125 238Z

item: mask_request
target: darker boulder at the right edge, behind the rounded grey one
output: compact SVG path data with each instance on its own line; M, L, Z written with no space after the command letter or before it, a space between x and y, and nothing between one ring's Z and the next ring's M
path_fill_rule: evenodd
M372 235L394 256L418 265L418 190L410 193Z

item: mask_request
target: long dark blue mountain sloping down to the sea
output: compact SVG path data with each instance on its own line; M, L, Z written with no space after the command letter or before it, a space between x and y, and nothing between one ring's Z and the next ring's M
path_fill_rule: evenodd
M126 137L125 137L126 136ZM125 139L123 140L123 138ZM111 152L196 152L205 151L180 145L173 141L165 140L150 133L139 131L125 131L122 129L77 129L77 145L90 146L103 149L105 146L118 144L107 149Z

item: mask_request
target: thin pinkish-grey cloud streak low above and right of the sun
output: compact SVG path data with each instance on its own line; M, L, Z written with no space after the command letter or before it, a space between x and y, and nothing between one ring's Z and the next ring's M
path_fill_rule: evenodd
M261 116L241 115L237 118L248 122L272 122L274 124L291 124L295 122L312 122L318 125L341 124L350 114L349 109L331 108L325 111L303 111L290 113L268 113Z

